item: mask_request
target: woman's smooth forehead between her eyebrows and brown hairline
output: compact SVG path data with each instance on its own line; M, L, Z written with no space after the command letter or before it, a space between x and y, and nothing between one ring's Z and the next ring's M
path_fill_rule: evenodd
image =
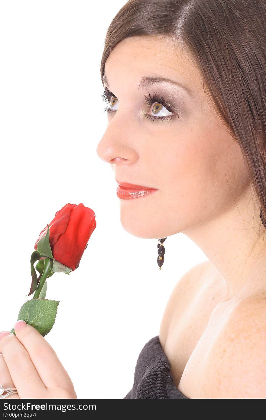
M170 37L130 37L119 42L105 63L105 74L112 87L130 78L137 83L142 76L163 76L176 80L195 94L202 90L198 69L178 42Z

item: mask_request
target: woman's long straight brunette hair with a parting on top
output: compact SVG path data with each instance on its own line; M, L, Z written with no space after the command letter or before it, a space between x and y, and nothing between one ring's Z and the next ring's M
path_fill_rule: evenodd
M100 64L133 36L179 40L240 145L266 227L266 1L129 0L108 27Z

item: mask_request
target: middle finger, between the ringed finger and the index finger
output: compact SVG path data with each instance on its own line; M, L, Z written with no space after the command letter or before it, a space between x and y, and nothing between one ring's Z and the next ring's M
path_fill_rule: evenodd
M3 353L20 398L40 398L40 395L46 394L47 390L29 357L29 353L14 334L8 334L1 338L0 352Z

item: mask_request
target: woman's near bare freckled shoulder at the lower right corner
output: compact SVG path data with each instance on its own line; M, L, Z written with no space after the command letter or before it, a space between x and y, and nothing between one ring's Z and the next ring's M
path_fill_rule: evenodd
M208 398L266 398L265 320L266 294L242 299L228 314L208 352L203 374Z

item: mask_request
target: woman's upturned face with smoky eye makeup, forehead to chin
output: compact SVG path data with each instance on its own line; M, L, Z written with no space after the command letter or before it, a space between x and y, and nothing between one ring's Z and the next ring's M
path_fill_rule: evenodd
M111 165L116 181L157 189L145 197L119 198L126 231L147 239L185 233L236 205L249 183L240 147L184 50L170 38L127 38L106 60L105 76L116 100L108 104L113 112L97 154ZM168 81L142 90L143 77L171 79L191 93ZM148 105L145 97L154 93L174 111L159 101Z

